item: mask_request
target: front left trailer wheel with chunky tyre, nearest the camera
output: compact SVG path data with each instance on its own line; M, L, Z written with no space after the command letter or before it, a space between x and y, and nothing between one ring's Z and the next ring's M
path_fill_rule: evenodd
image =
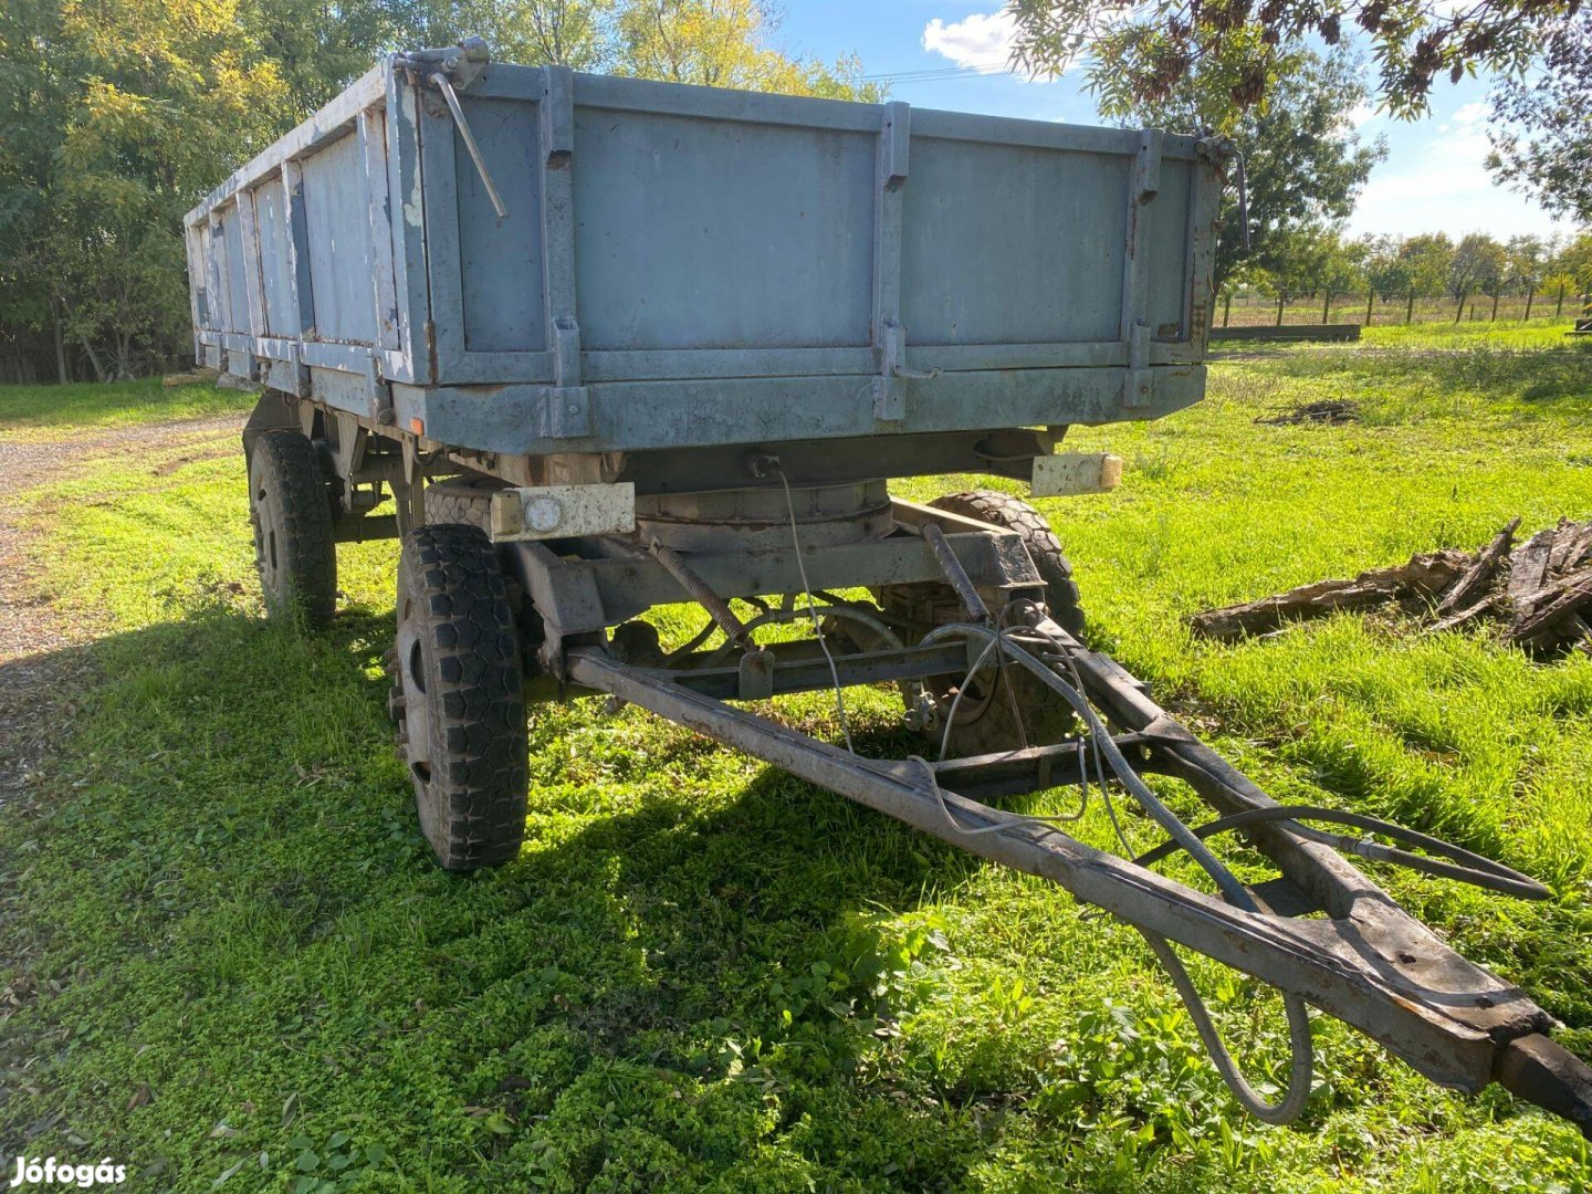
M398 557L390 712L420 833L449 871L506 863L525 836L525 696L514 610L486 532L419 527Z

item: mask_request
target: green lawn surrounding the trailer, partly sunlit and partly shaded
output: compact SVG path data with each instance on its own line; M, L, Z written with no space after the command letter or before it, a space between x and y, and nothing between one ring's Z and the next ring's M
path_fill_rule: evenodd
M1592 358L1428 347L1223 363L1204 404L1070 441L1127 458L1119 492L1043 506L1094 642L1274 794L1554 885L1527 906L1387 877L1589 1055L1592 661L1355 618L1213 646L1181 621L1592 514ZM1345 395L1363 422L1254 422ZM239 462L174 463L33 494L48 586L113 634L37 801L0 815L8 1157L115 1156L183 1191L1592 1181L1573 1129L1325 1017L1307 1118L1245 1122L1132 931L635 710L540 710L524 853L438 872L384 713L392 544L342 549L345 611L298 640L258 618ZM782 710L837 736L821 696ZM853 696L869 750L914 748L896 715ZM1197 974L1274 1067L1275 1001Z

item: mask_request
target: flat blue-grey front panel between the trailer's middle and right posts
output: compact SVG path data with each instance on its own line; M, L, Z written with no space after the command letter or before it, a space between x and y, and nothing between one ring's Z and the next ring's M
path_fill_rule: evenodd
M1098 153L914 137L901 244L911 342L1114 341L1129 166Z

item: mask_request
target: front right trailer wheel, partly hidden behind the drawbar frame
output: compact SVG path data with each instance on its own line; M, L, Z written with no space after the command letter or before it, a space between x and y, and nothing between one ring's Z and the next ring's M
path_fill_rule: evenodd
M949 494L930 505L1020 535L1040 579L1044 581L1051 618L1070 634L1083 632L1084 613L1071 564L1040 511L1020 498L987 489ZM955 591L941 583L890 586L880 589L879 603L896 618L907 619L914 627L914 638L936 626L966 618ZM930 734L936 750L941 740L946 742L947 753L960 756L1049 745L1075 724L1067 700L1022 667L1008 665L1003 673L985 669L968 681L958 700L962 681L962 675L930 677L923 681L939 712L939 728Z

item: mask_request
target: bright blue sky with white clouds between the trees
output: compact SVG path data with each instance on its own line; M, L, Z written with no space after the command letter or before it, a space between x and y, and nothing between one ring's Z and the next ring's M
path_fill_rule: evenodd
M1001 0L785 0L782 49L833 60L856 54L890 97L925 108L1098 124L1083 72L1030 81L1006 70L1011 21ZM1363 137L1385 137L1379 164L1348 221L1350 234L1570 232L1527 197L1495 186L1487 156L1482 78L1439 81L1431 115L1396 121L1372 110L1353 119Z

